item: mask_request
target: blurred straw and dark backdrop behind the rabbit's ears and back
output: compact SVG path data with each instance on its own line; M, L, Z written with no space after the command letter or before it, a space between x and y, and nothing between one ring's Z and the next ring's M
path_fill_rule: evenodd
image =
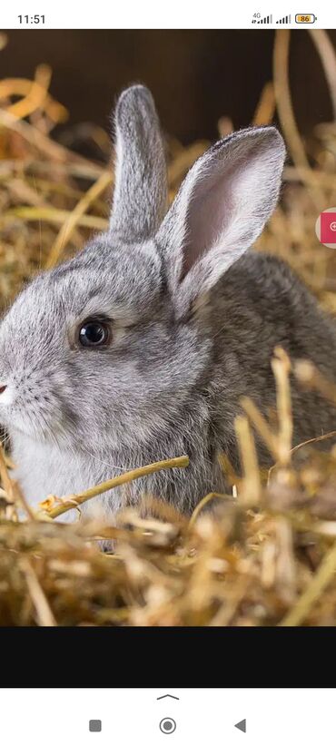
M279 126L282 201L256 248L336 311L336 253L315 233L336 205L335 48L336 31L322 30L1 32L0 307L107 226L111 111L142 82L163 124L171 199L213 140Z

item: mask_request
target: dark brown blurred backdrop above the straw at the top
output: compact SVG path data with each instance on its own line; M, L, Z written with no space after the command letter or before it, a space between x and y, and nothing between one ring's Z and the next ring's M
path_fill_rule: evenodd
M229 113L235 127L252 120L262 86L272 78L274 31L44 31L6 33L2 77L33 78L53 70L53 94L69 123L108 128L115 96L142 82L153 91L168 133L183 144L216 137ZM336 31L329 32L336 45ZM292 34L291 85L298 124L308 133L331 119L328 86L311 37Z

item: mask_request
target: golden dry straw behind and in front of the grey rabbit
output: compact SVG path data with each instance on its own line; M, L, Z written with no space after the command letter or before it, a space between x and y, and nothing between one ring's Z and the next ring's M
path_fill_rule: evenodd
M0 49L6 44L0 37ZM336 63L328 35L311 33L330 86L336 118ZM292 165L285 169L282 201L257 250L287 260L336 312L336 254L320 246L314 224L321 209L336 204L335 123L316 127L302 142L289 88L290 32L275 37L273 80L261 93L253 123L277 116ZM0 52L1 54L1 52ZM66 120L49 93L51 70L35 80L0 82L0 298L3 308L40 267L78 250L91 231L107 225L113 185L109 144L99 128L85 127L100 162L56 142L53 130ZM219 132L232 131L223 116ZM171 197L195 158L208 146L188 148L168 140ZM94 499L111 484L81 496L45 496L33 515L11 479L11 460L0 451L0 623L7 625L325 625L336 620L336 448L322 453L311 442L292 448L291 376L317 388L332 403L336 389L307 363L274 351L277 422L267 422L253 402L242 401L236 421L242 477L225 455L232 495L204 496L193 516L143 497L152 518L125 510L116 526L55 523L54 517ZM336 423L335 423L336 427ZM259 468L257 431L274 466ZM324 436L332 444L330 434ZM330 441L328 440L330 438ZM303 449L304 460L297 458ZM177 463L187 468L187 455ZM174 462L175 463L175 462ZM173 468L164 462L148 468ZM141 470L123 476L136 478ZM120 478L120 477L119 477ZM206 506L216 506L214 513ZM25 515L24 518L19 517ZM115 554L97 548L114 539Z

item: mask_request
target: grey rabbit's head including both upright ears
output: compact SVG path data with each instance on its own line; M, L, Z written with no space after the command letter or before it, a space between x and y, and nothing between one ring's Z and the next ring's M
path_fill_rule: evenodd
M109 231L33 280L0 326L0 421L78 450L153 443L185 419L208 376L215 286L272 213L284 160L273 127L232 134L167 211L151 93L127 89L114 122Z

